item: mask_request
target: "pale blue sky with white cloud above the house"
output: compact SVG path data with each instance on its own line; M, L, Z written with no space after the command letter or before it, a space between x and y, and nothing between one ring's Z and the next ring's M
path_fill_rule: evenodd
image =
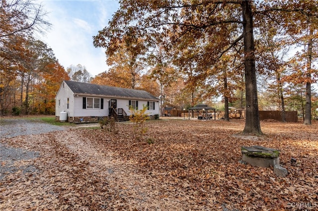
M52 48L65 70L86 67L94 77L108 70L105 49L93 46L93 36L107 26L119 8L115 0L38 0L48 12L51 29L40 39Z

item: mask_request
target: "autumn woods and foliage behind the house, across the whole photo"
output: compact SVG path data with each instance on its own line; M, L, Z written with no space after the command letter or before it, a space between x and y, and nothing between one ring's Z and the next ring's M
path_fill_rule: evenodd
M40 4L2 0L0 113L54 114L63 80L143 89L160 98L161 108L249 106L241 15L247 6L253 18L258 109L316 118L318 1L246 2L121 0L92 41L106 48L110 69L92 77L83 64L65 69L35 38L35 32L50 27Z

